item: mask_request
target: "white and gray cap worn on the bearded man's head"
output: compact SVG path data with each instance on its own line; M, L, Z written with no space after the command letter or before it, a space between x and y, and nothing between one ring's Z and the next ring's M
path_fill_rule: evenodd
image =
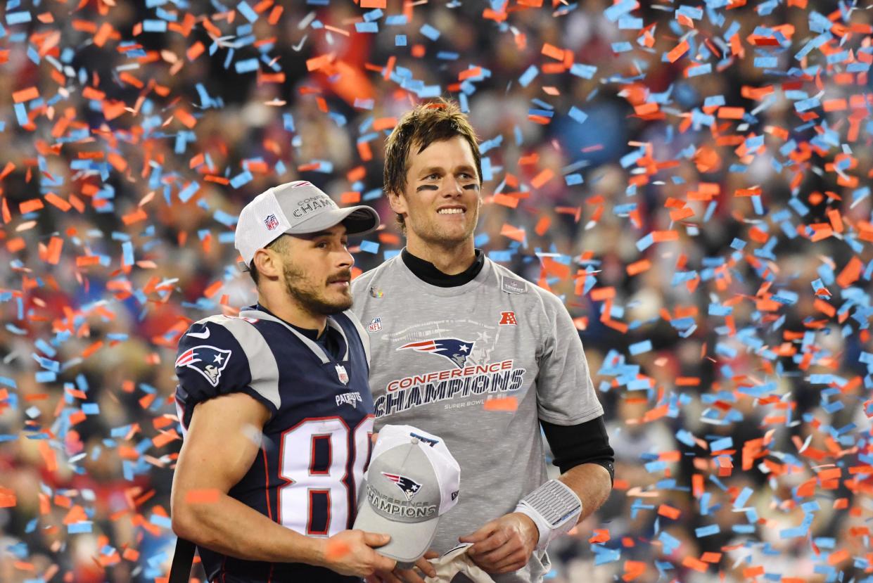
M285 182L266 189L243 207L234 247L248 267L255 251L285 233L307 235L340 223L348 235L364 235L379 228L379 214L365 205L340 209L312 182Z

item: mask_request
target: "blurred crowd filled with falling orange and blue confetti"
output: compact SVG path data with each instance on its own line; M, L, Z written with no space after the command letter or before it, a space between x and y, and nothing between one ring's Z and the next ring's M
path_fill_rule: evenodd
M478 247L564 298L606 409L549 578L866 580L870 7L378 5L6 3L0 580L166 575L175 344L255 298L235 216L308 180L380 210L374 267L384 137L437 95Z

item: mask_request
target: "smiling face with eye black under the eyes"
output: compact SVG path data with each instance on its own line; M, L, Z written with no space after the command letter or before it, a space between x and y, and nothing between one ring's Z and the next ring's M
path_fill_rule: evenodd
M482 199L476 161L460 135L409 149L405 192L389 194L391 209L403 216L410 246L439 247L472 241Z

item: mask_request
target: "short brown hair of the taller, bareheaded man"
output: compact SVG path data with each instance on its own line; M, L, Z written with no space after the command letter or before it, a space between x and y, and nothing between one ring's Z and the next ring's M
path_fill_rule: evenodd
M404 113L385 141L385 170L382 176L385 192L401 194L406 189L411 147L417 147L421 154L435 141L451 140L457 135L470 144L481 187L482 156L479 154L476 132L455 101L440 97L430 103L421 103L412 111ZM405 229L402 215L397 215L397 223Z

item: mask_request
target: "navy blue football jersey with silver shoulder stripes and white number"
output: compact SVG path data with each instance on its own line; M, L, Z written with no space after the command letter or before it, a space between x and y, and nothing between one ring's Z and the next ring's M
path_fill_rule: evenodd
M331 316L327 326L333 338L320 343L267 312L212 316L191 325L175 361L183 429L197 403L222 394L249 394L270 410L261 451L230 497L315 537L352 527L373 433L367 334L352 312ZM197 550L213 583L359 580Z

